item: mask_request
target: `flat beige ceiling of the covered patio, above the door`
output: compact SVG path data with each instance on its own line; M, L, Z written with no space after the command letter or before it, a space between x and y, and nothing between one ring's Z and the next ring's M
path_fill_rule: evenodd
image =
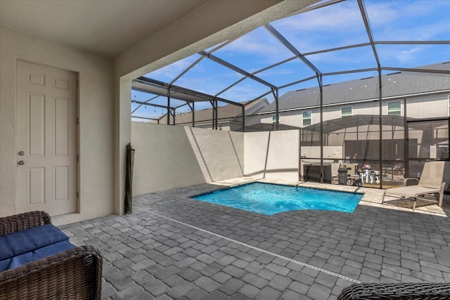
M1 0L0 24L68 46L117 56L206 0Z

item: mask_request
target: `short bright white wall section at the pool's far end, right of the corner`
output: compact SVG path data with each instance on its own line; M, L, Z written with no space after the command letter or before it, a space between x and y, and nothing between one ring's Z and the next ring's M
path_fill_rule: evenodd
M299 131L248 132L244 138L245 176L299 180Z

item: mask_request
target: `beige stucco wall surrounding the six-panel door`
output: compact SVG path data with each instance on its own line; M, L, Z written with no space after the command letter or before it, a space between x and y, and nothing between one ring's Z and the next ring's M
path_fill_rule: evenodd
M0 216L16 213L15 68L24 59L79 73L79 221L113 213L113 61L0 27Z

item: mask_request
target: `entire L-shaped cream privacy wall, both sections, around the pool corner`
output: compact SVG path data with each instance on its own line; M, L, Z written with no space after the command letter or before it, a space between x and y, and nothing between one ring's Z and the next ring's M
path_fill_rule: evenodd
M229 178L299 180L299 131L242 133L131 122L133 195Z

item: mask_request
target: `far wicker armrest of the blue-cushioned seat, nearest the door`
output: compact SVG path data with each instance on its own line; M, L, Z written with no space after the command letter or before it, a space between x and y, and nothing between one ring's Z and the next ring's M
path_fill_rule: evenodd
M51 218L45 211L30 211L0 218L0 235L8 235L15 231L25 230L51 224Z

